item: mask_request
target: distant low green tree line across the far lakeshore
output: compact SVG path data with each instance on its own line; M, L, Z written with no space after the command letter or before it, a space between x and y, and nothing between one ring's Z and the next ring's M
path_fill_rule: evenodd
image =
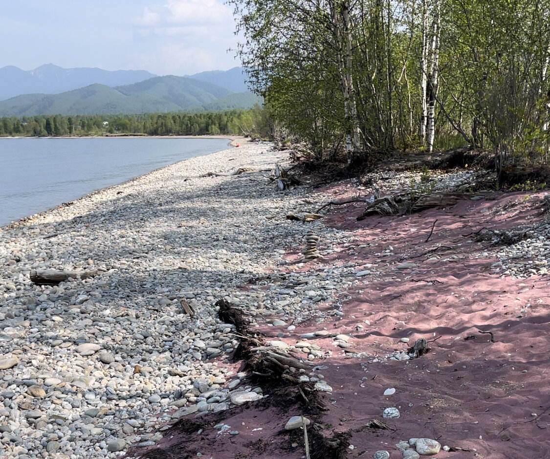
M138 115L41 115L0 118L0 136L56 137L106 134L269 135L263 108L225 112Z

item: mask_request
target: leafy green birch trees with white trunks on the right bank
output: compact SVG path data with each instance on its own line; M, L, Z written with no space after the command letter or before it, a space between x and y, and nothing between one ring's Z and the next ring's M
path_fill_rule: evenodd
M546 159L549 0L229 0L250 84L317 158Z

